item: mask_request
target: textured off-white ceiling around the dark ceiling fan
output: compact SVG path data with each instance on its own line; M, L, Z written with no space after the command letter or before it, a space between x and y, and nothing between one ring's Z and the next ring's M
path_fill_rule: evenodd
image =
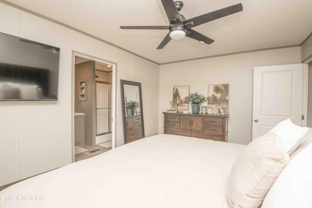
M242 3L243 11L192 29L215 40L171 40L166 30L120 25L168 25L160 0L7 0L156 63L301 44L312 32L312 0L182 0L186 19Z

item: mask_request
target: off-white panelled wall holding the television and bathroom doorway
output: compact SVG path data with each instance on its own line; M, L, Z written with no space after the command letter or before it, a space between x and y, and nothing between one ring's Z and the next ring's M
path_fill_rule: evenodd
M117 146L123 145L120 79L142 83L145 135L158 132L157 64L2 3L0 32L61 49L59 101L0 102L0 186L71 163L73 51L117 63Z

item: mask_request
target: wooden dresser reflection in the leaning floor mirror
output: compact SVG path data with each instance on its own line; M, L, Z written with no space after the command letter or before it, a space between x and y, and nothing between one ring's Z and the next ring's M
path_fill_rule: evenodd
M128 142L142 138L141 115L131 115L127 117Z

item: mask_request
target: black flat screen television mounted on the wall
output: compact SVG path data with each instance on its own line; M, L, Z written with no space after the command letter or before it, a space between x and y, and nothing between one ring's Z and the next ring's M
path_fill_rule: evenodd
M0 101L58 100L60 48L0 33Z

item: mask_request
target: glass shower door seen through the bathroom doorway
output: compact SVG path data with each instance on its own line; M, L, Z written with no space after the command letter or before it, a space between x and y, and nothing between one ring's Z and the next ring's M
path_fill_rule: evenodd
M96 131L97 136L111 133L111 84L96 82L96 117L97 125Z

